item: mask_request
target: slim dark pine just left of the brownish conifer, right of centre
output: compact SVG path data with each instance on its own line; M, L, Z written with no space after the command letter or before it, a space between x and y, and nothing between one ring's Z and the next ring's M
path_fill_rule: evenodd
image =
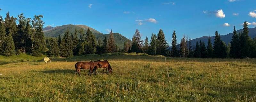
M176 47L176 45L177 45L177 38L176 38L175 30L173 31L173 34L172 34L171 45L172 45L171 56L172 57L178 57L179 54L178 54L178 49Z

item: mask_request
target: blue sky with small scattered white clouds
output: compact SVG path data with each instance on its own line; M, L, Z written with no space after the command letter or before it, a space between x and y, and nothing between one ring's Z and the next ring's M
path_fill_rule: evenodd
M256 27L256 0L0 0L0 15L43 15L44 27L82 24L107 34L110 29L132 39L136 29L145 40L161 28L171 43L173 30L178 42L183 34L191 39L226 35Z

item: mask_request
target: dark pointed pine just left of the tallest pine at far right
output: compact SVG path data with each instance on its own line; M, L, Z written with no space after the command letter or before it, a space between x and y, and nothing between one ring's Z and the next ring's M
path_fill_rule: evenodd
M240 57L240 44L239 44L239 37L236 32L236 28L234 26L233 35L231 39L231 45L230 45L230 57L232 58L239 58Z

